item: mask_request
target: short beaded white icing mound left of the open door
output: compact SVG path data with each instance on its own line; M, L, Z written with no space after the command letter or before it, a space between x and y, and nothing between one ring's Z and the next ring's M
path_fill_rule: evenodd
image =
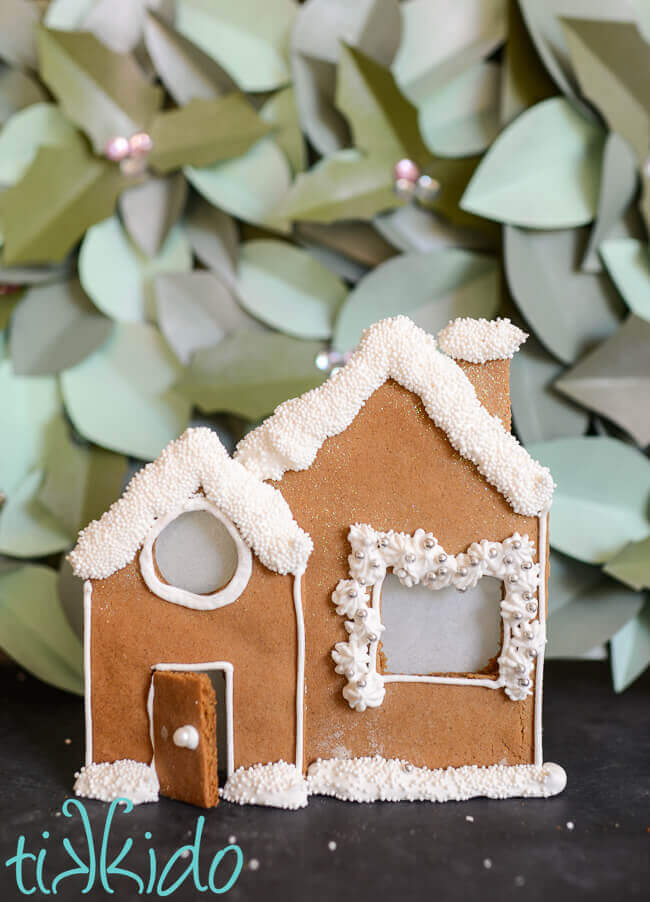
M75 795L86 799L130 799L134 805L140 805L157 802L159 790L155 770L128 758L112 764L86 764L75 774Z

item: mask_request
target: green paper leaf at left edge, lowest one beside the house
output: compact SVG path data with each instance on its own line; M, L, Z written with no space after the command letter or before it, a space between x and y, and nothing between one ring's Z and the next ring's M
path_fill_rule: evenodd
M0 574L0 647L46 683L83 695L83 650L56 592L56 571L28 564Z

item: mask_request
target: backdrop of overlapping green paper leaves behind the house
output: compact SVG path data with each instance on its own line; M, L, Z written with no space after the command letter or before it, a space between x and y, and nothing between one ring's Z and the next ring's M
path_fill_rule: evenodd
M549 653L609 642L632 682L648 39L634 0L4 0L0 647L81 691L63 555L190 421L232 445L381 317L506 313L558 482Z

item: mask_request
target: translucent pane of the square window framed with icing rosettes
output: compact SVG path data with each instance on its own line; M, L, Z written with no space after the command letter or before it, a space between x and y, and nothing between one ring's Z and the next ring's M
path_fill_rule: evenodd
M503 584L484 576L474 589L407 589L392 573L381 592L388 673L477 673L499 651Z

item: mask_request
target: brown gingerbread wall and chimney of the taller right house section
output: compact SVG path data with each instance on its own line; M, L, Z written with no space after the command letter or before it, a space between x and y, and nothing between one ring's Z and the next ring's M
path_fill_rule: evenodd
M463 364L490 412L510 426L508 362ZM533 761L533 698L502 690L391 683L379 708L353 711L330 653L345 641L331 594L347 578L347 533L432 530L448 552L514 532L537 541L534 517L513 513L473 464L453 450L420 399L387 382L352 425L328 439L309 470L274 483L314 541L304 578L306 629L305 764L318 757L380 754L429 767Z

